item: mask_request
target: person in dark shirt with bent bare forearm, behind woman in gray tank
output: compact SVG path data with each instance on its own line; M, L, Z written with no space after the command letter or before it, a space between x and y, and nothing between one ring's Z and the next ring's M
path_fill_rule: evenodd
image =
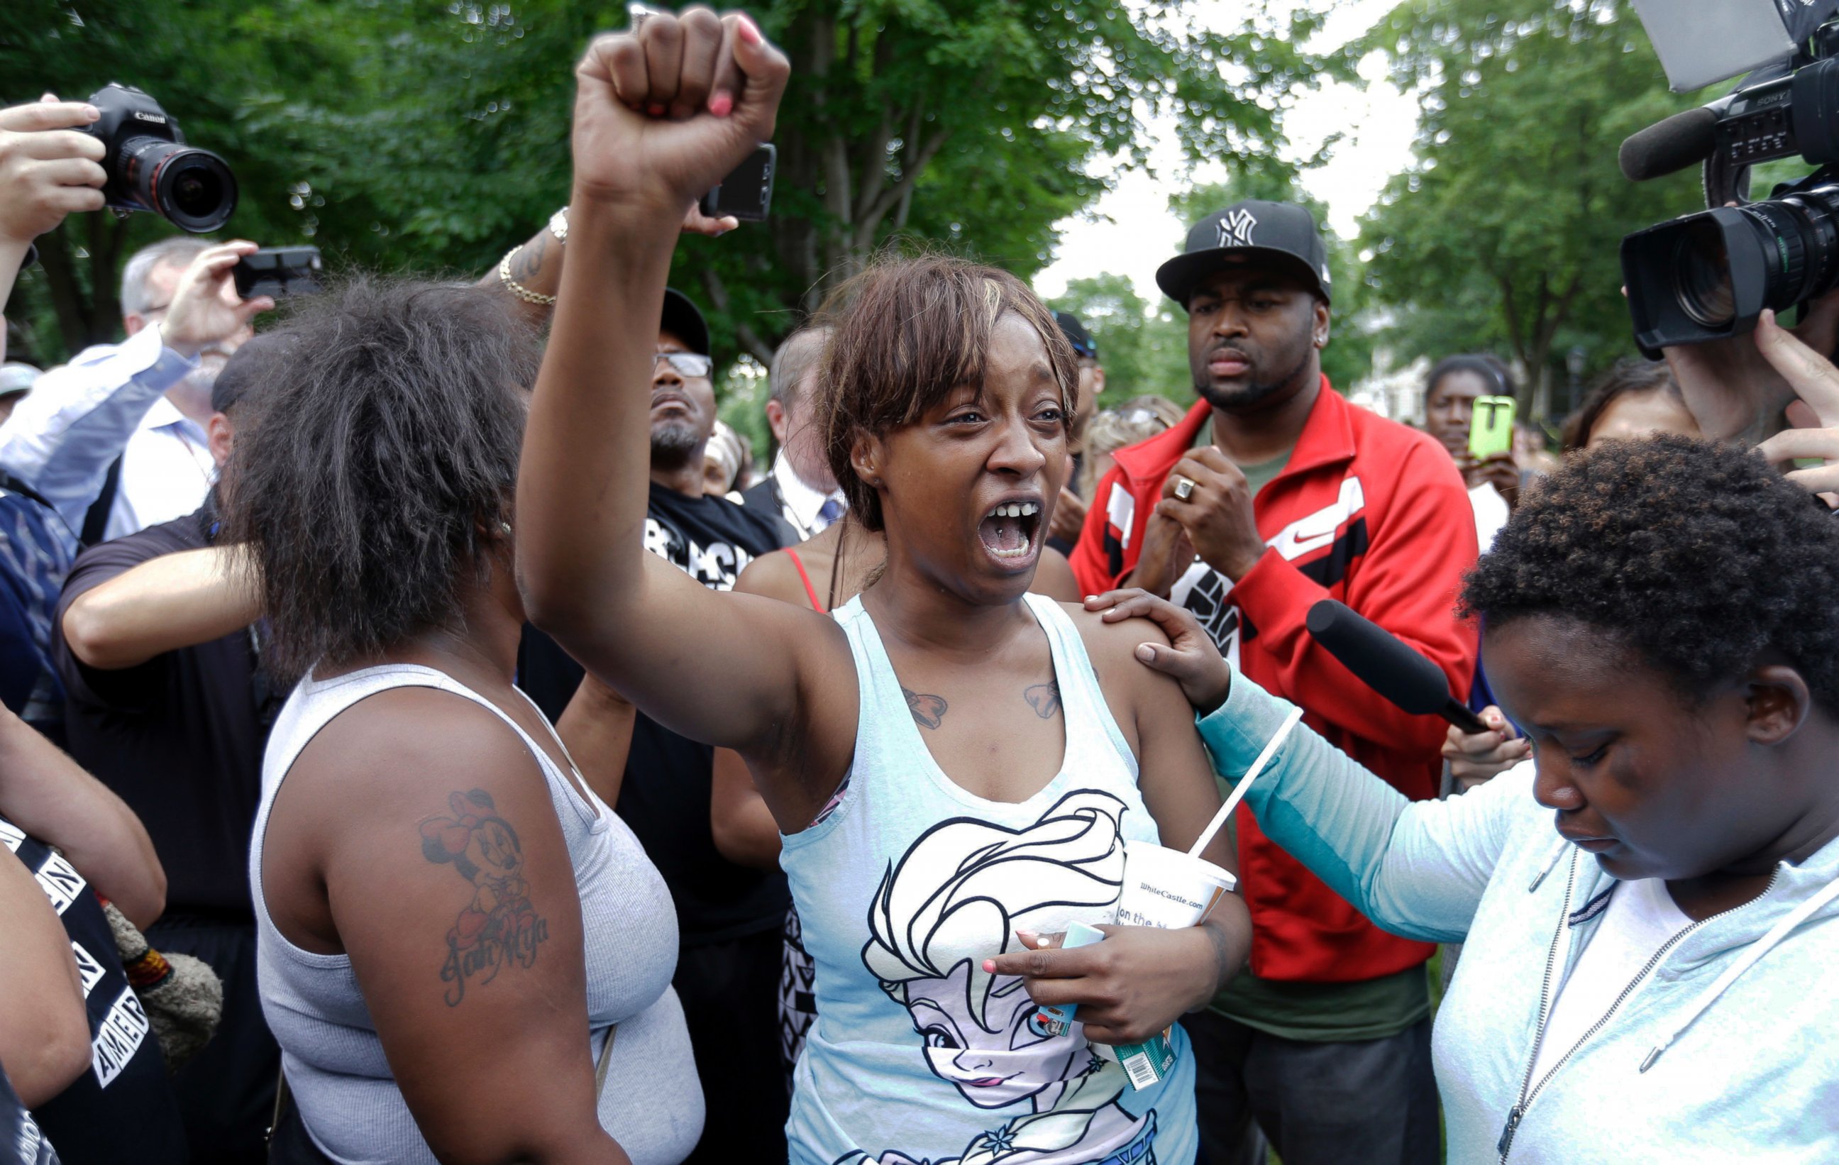
M237 348L211 385L211 460L285 340ZM195 955L224 985L223 1021L173 1077L193 1161L267 1159L281 1053L256 990L248 836L261 753L287 696L261 672L261 604L217 543L217 490L197 513L77 556L57 602L70 755L140 815L166 867L166 913L147 928L162 952Z

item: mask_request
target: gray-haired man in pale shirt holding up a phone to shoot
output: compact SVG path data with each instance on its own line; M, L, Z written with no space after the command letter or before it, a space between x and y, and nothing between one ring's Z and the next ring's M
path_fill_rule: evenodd
M230 271L254 243L160 239L121 271L127 340L39 377L0 429L0 469L94 545L197 510L211 488L211 383L274 300Z

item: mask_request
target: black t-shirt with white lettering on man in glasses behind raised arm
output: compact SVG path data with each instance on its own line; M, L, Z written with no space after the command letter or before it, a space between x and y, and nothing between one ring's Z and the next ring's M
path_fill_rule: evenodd
M645 550L712 591L732 589L748 561L780 545L769 515L725 497L688 497L651 484ZM517 683L554 721L581 683L581 664L543 631L524 628ZM671 887L684 946L778 928L791 905L785 874L734 865L715 850L708 823L712 767L706 744L638 714L614 810Z

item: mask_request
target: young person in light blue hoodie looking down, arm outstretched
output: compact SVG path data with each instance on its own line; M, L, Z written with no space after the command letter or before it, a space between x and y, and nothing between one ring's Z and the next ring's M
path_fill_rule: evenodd
M1296 731L1247 793L1374 922L1466 944L1449 1159L1839 1161L1839 521L1749 453L1616 442L1521 504L1462 602L1536 775L1409 802ZM1089 606L1162 624L1138 657L1245 773L1289 705L1162 600Z

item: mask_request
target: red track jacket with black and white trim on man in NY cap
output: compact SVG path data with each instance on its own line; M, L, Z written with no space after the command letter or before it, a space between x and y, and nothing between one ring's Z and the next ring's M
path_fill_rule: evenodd
M1122 582L1175 462L1194 447L1208 405L1177 427L1116 453L1072 552L1081 591ZM1304 617L1339 598L1431 657L1449 690L1468 694L1475 633L1455 617L1475 563L1475 517L1455 462L1427 434L1344 401L1322 377L1284 471L1252 499L1269 547L1245 578L1194 589L1188 606L1219 639L1238 626L1239 668L1306 710L1304 721L1412 799L1434 797L1444 721L1381 699L1309 639ZM1199 604L1199 606L1197 606ZM1252 972L1265 979L1376 979L1431 957L1387 935L1280 850L1249 812L1236 813L1239 874L1252 913Z

